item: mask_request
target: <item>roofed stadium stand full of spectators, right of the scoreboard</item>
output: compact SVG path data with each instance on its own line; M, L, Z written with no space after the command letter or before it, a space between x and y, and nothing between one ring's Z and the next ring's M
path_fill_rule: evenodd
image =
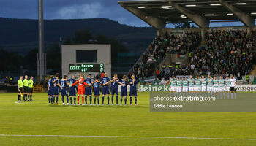
M154 52L154 46L152 47L154 53L146 51L142 56L143 61L138 61L138 64L130 69L136 77L156 76L158 80L162 78L167 80L173 75L234 74L238 82L250 83L254 80L256 69L252 65L255 64L256 55L256 1L139 0L118 1L118 4L156 28L157 36L160 36L157 40L160 40L161 44L156 46L162 52ZM168 24L186 22L195 23L198 28L167 27ZM233 22L241 22L244 26L232 26ZM210 24L213 23L229 23L229 25L212 28ZM186 35L180 35L186 34L186 31L199 32L202 40L198 41L199 46L191 47L186 43L183 45L183 41L179 42L186 39ZM164 39L161 38L167 37L165 32L170 39L176 37L174 41L170 41L170 46L165 46ZM192 36L192 39L195 40L195 36Z

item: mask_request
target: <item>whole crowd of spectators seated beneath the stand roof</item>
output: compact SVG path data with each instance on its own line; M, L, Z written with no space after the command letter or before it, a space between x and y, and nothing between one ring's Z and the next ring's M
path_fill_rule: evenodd
M200 45L198 32L165 34L149 45L133 69L136 77L157 76L168 79L173 75L230 75L249 74L256 60L256 33L246 30L214 30L205 34ZM187 54L189 62L181 66L159 66L167 53Z

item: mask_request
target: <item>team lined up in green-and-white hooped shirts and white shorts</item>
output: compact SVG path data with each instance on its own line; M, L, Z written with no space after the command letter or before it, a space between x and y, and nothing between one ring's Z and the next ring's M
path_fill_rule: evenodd
M182 92L183 96L201 96L200 94L202 93L203 97L207 97L208 92L208 96L215 96L217 99L219 99L220 96L221 99L225 99L225 92L227 92L227 99L230 98L230 93L231 99L233 99L233 94L236 99L235 87L236 79L233 75L231 75L230 78L225 77L225 79L223 79L222 76L219 76L219 79L217 79L217 76L212 78L210 75L208 78L204 76L199 78L196 76L194 79L192 75L190 75L189 79L186 77L183 79L180 77L170 79L171 96L181 96Z

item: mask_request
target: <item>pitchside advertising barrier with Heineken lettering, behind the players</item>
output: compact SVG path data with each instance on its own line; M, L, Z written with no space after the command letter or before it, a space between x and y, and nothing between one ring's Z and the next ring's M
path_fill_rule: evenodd
M121 91L121 87L119 91ZM139 92L170 92L170 85L139 85L138 91ZM256 92L256 85L236 85L236 91Z

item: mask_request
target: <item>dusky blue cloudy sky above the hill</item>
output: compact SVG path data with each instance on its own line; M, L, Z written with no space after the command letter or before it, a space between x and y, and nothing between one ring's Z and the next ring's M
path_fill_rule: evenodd
M0 17L37 19L37 2L38 0L0 0ZM117 0L44 0L44 10L45 19L110 18L130 26L148 26L122 8ZM211 24L227 25L230 23Z

